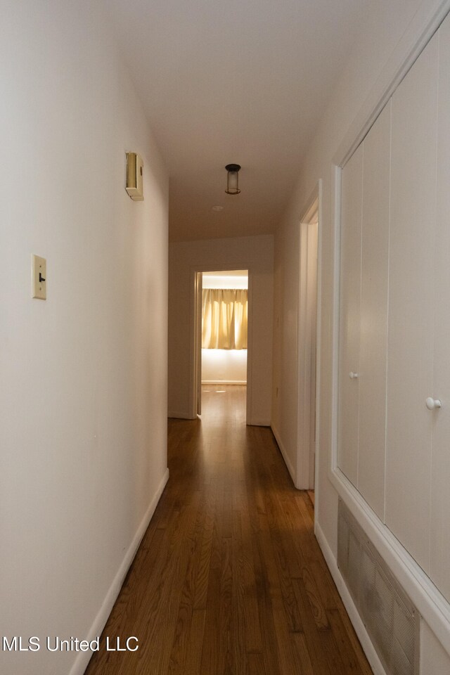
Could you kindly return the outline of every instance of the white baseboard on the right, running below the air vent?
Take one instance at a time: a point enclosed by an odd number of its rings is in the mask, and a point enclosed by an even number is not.
[[[375,647],[373,646],[371,638],[368,636],[364,623],[359,616],[359,612],[354,606],[352,596],[345,585],[344,579],[342,579],[342,575],[339,571],[333,551],[331,551],[328,541],[326,540],[326,536],[323,534],[321,526],[318,522],[316,522],[314,532],[316,534],[317,541],[319,541],[319,546],[321,547],[321,551],[323,553],[323,557],[326,560],[326,564],[328,565],[328,569],[330,570],[331,576],[333,577],[338,588],[339,595],[345,605],[347,614],[349,615],[350,621],[352,622],[356,631],[356,635],[359,638],[361,647],[364,650],[368,662],[371,664],[371,669],[373,670],[374,675],[386,675],[386,671],[383,668],[380,659],[378,658],[378,654],[375,651]]]

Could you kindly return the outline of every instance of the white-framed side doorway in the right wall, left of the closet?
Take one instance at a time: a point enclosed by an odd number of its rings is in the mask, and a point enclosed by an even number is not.
[[[300,221],[300,288],[298,311],[297,488],[316,501],[316,428],[318,417],[318,266],[319,188]]]

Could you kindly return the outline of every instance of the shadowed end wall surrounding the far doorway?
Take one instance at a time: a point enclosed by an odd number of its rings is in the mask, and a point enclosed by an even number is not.
[[[169,416],[189,418],[193,383],[193,276],[195,271],[248,269],[248,423],[269,425],[273,255],[271,236],[209,239],[169,245]]]

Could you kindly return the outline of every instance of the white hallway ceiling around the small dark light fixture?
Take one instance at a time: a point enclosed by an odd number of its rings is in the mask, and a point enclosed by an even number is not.
[[[274,231],[371,3],[108,0],[169,168],[172,240]]]

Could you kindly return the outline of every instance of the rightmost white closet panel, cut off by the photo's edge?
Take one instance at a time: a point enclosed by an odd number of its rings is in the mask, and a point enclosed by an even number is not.
[[[450,18],[439,29],[439,128],[435,248],[430,576],[450,600]]]

